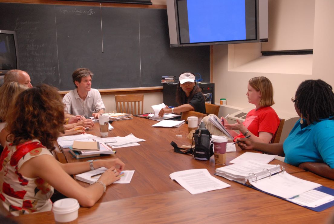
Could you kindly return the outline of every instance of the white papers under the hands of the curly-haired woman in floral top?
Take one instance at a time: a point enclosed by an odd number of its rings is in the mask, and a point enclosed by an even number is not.
[[[75,179],[86,182],[86,183],[95,183],[96,181],[98,181],[100,176],[94,176],[94,177],[92,176],[96,174],[100,174],[100,173],[102,174],[106,170],[107,170],[106,167],[100,167],[95,170],[77,174],[75,175]],[[121,179],[115,181],[114,183],[130,183],[134,172],[135,172],[134,170],[124,170],[124,176],[121,176]]]

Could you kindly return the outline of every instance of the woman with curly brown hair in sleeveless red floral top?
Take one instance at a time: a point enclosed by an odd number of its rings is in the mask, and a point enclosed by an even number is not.
[[[0,212],[28,214],[49,211],[53,188],[75,198],[81,206],[93,206],[106,186],[120,179],[124,163],[119,159],[62,164],[51,154],[59,132],[64,131],[64,104],[54,87],[41,85],[17,96],[6,117],[10,142],[1,154]],[[70,175],[106,167],[97,183],[87,188]]]

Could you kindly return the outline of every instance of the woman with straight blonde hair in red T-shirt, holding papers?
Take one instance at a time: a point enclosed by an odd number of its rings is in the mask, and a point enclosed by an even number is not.
[[[241,121],[237,120],[237,123],[230,125],[222,117],[220,119],[221,124],[228,129],[234,141],[237,138],[244,138],[250,135],[249,139],[255,142],[269,143],[280,124],[280,119],[271,107],[275,103],[273,85],[264,76],[254,77],[248,81],[246,95],[248,102],[255,105],[255,109],[248,112],[245,121],[241,123]],[[209,118],[209,116],[207,117]],[[207,117],[204,118],[204,121],[210,133],[213,135],[224,135],[208,121]],[[238,130],[240,134],[234,130]]]

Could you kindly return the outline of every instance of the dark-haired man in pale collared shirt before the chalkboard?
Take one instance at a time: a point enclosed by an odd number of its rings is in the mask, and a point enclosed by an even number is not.
[[[75,89],[63,98],[66,113],[95,118],[99,118],[104,113],[105,105],[100,92],[91,88],[93,75],[87,68],[78,68],[73,72],[72,80]]]

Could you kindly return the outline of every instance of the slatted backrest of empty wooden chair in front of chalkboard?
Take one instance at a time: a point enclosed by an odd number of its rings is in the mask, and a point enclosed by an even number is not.
[[[118,113],[126,113],[132,115],[144,113],[143,94],[115,95],[115,101],[116,101],[116,110]]]

